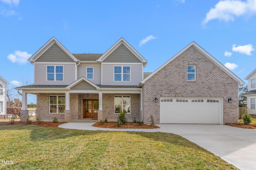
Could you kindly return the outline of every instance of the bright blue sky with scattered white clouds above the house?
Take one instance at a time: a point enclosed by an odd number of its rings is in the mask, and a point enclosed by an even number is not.
[[[195,41],[244,80],[256,68],[255,30],[256,0],[0,0],[0,76],[33,84],[27,59],[52,37],[95,54],[123,37],[148,61],[144,72]]]

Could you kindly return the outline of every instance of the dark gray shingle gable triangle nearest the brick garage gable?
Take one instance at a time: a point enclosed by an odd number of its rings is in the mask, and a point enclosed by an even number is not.
[[[123,44],[117,47],[104,61],[105,63],[141,63]]]

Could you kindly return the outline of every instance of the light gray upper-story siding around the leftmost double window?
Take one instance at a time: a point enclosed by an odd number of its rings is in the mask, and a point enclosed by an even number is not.
[[[46,66],[63,66],[63,81],[46,81]],[[69,85],[76,80],[76,63],[34,63],[35,85]]]

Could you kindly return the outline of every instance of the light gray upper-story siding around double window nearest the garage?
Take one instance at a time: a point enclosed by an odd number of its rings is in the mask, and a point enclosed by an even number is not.
[[[114,66],[130,66],[130,82],[114,82]],[[115,63],[115,64],[104,64],[102,63],[102,85],[122,85],[122,86],[138,86],[139,82],[142,80],[142,63],[138,64],[125,64],[125,63]]]

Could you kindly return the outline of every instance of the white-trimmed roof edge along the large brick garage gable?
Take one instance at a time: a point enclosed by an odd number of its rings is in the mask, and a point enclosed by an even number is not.
[[[236,76],[236,74],[234,74],[232,71],[230,71],[228,68],[226,68],[223,64],[221,64],[218,60],[216,60],[214,57],[212,57],[212,55],[210,55],[207,51],[205,51],[202,47],[200,47],[197,43],[195,43],[194,41],[192,41],[189,45],[187,45],[184,49],[182,49],[180,52],[178,52],[176,55],[174,55],[172,58],[170,58],[168,61],[166,61],[164,64],[162,64],[162,66],[160,66],[159,68],[157,68],[154,72],[152,72],[149,76],[147,76],[146,78],[144,78],[140,83],[139,86],[143,86],[143,84],[145,83],[146,80],[148,80],[150,77],[152,77],[154,74],[156,74],[159,70],[161,70],[162,68],[164,68],[164,66],[166,66],[167,64],[169,64],[170,62],[172,62],[174,59],[176,59],[176,57],[178,57],[180,54],[182,54],[184,51],[186,51],[186,49],[188,49],[189,47],[195,47],[198,51],[200,51],[204,56],[206,56],[208,59],[210,59],[210,61],[212,61],[213,63],[215,63],[217,66],[220,67],[220,69],[222,69],[224,72],[226,72],[230,77],[232,77],[237,83],[238,85],[243,85],[244,81],[241,80],[238,76]]]

